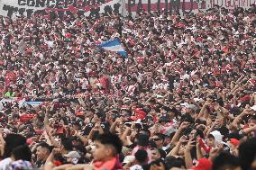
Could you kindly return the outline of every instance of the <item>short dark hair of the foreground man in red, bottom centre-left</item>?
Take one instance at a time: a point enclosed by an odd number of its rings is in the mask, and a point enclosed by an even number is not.
[[[112,133],[100,134],[96,137],[96,141],[99,141],[103,145],[112,145],[115,148],[115,154],[122,152],[123,142],[119,137]]]

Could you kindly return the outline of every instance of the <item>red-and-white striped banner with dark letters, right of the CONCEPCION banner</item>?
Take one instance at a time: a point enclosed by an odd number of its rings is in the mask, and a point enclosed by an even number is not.
[[[192,11],[206,9],[206,2],[196,0],[126,0],[127,13]]]

